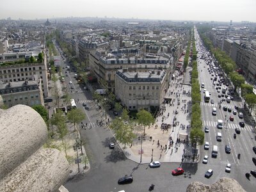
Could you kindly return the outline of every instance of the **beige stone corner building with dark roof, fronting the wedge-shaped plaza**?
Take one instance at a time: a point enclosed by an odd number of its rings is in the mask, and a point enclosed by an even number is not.
[[[168,89],[166,70],[129,72],[119,69],[115,74],[115,95],[129,110],[158,108]]]

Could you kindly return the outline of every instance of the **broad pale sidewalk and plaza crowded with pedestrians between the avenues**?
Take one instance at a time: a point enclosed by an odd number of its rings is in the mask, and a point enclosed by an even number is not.
[[[179,72],[175,71],[175,80],[166,92],[166,97],[170,102],[161,105],[156,124],[145,129],[145,138],[143,140],[140,138],[143,134],[143,127],[134,126],[134,132],[138,137],[132,146],[126,146],[124,149],[124,145],[119,144],[128,159],[137,163],[150,163],[152,160],[161,163],[198,163],[200,161],[199,155],[193,156],[191,143],[188,143],[189,113],[191,112],[189,72],[191,70],[192,68],[188,67],[184,77],[179,76]],[[140,154],[141,151],[142,154]]]

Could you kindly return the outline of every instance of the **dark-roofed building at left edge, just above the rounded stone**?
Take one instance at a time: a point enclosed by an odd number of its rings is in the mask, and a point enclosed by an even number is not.
[[[0,84],[3,104],[8,108],[17,104],[44,106],[44,97],[40,81],[19,81]]]

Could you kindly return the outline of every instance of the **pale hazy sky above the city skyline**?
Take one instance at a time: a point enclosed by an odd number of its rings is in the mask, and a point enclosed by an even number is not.
[[[118,17],[256,22],[256,0],[0,0],[0,19]]]

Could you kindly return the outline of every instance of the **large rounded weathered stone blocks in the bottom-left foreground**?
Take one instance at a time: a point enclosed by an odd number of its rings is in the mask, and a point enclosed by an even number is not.
[[[60,151],[42,148],[47,127],[23,105],[0,109],[0,191],[56,191],[68,177]]]

